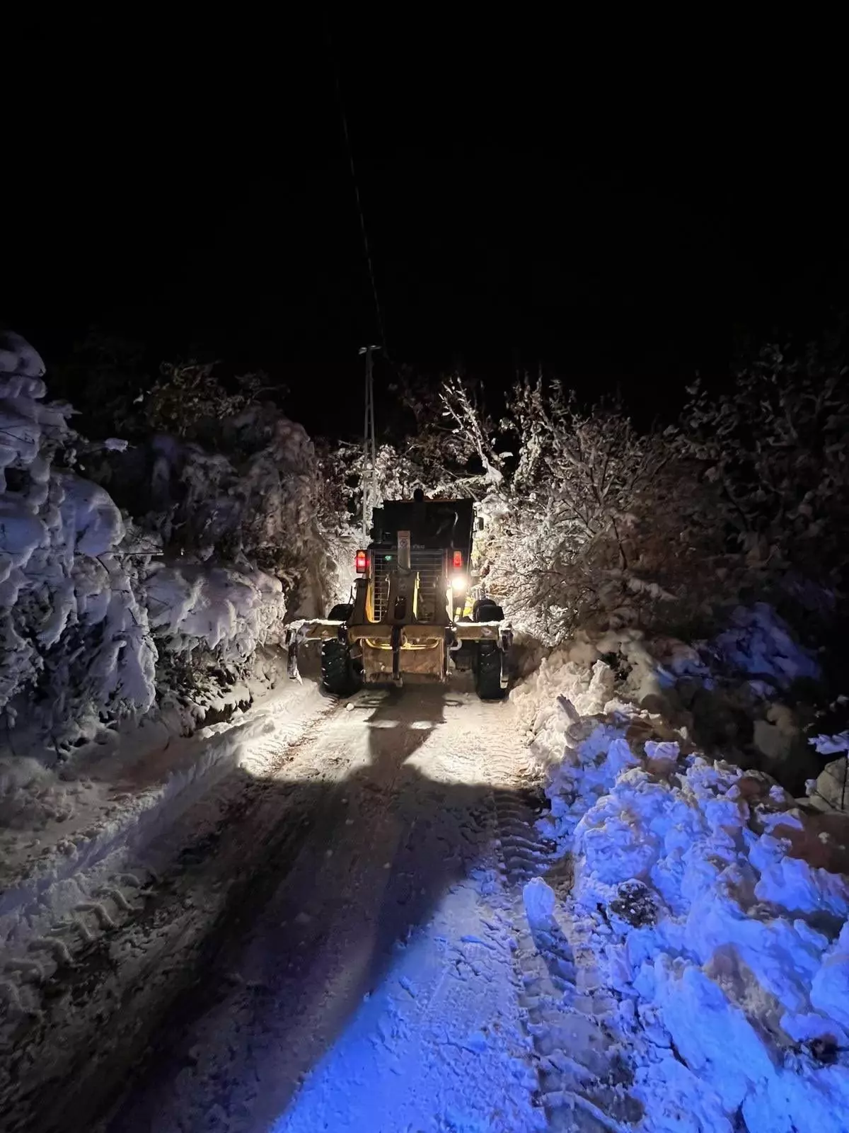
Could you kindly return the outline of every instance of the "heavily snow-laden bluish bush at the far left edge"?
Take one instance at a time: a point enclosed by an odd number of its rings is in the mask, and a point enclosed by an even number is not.
[[[44,365],[19,337],[0,351],[0,707],[35,692],[54,741],[97,715],[144,712],[153,646],[138,562],[110,496],[71,470],[70,408],[45,403]]]

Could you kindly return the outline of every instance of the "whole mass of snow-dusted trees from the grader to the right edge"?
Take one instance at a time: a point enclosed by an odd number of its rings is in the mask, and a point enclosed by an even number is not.
[[[443,399],[489,480],[484,585],[543,641],[589,617],[701,630],[741,599],[809,604],[841,583],[849,409],[833,358],[766,350],[735,391],[694,386],[662,432],[525,378],[501,423],[515,455],[458,392]]]

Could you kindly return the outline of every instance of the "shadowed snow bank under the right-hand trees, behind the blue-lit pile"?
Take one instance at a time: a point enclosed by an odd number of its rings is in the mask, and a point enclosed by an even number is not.
[[[588,674],[594,662],[592,689]],[[626,705],[653,713],[679,734],[715,756],[732,757],[779,780],[792,794],[805,791],[822,764],[805,735],[808,723],[806,690],[797,681],[821,676],[816,657],[799,646],[787,624],[763,604],[737,610],[731,625],[712,641],[686,645],[674,638],[648,638],[641,630],[580,631],[560,647],[514,692],[522,726],[546,746],[544,721],[566,695],[578,715],[604,709],[616,695]],[[601,682],[601,683],[599,683]],[[589,698],[585,700],[585,698]],[[559,759],[538,752],[543,763]],[[831,780],[822,792],[831,800]]]

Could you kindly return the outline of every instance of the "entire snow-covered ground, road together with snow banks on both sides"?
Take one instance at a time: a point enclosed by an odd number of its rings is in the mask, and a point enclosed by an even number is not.
[[[603,661],[265,688],[12,793],[3,1133],[844,1133],[842,816]]]

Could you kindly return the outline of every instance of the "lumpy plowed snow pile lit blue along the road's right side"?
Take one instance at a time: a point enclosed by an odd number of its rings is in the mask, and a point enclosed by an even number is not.
[[[560,912],[592,926],[641,1128],[846,1131],[844,816],[704,758],[614,687],[603,662],[554,655],[514,698],[549,767],[540,825],[573,855]]]

